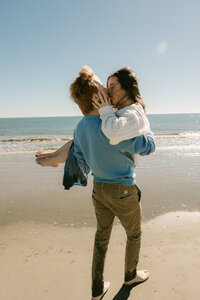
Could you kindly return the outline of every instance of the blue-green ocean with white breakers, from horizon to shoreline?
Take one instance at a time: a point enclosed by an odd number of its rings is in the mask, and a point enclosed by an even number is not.
[[[200,156],[199,113],[147,116],[157,151]],[[81,118],[0,118],[0,154],[56,150],[72,138]]]

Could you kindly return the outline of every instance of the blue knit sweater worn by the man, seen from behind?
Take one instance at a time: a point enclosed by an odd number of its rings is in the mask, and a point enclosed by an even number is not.
[[[101,131],[99,116],[85,116],[74,131],[74,155],[79,166],[92,170],[94,182],[124,185],[135,183],[130,153],[148,155],[155,151],[152,133],[111,145]]]

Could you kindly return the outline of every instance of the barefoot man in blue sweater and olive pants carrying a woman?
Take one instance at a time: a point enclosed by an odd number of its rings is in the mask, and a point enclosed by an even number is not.
[[[94,176],[92,199],[97,231],[92,264],[92,300],[99,300],[109,287],[109,283],[104,284],[103,269],[115,216],[127,234],[124,283],[131,285],[149,277],[148,271],[137,271],[141,237],[140,190],[135,184],[131,154],[148,155],[155,151],[155,143],[152,134],[148,133],[116,146],[110,145],[101,131],[98,110],[92,105],[98,92],[106,97],[106,91],[89,67],[81,69],[70,92],[84,114],[74,131],[74,155],[80,168],[89,166]]]

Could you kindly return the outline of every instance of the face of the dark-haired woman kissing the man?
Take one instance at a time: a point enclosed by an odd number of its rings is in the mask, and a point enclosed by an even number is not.
[[[122,89],[116,76],[111,76],[108,79],[108,94],[113,107],[117,107],[118,102],[125,95],[125,91]]]

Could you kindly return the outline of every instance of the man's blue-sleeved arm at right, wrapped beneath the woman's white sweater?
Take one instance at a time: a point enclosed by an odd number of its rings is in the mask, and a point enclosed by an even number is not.
[[[149,155],[156,149],[155,140],[151,132],[136,138],[123,141],[119,145],[119,150],[133,154]]]

